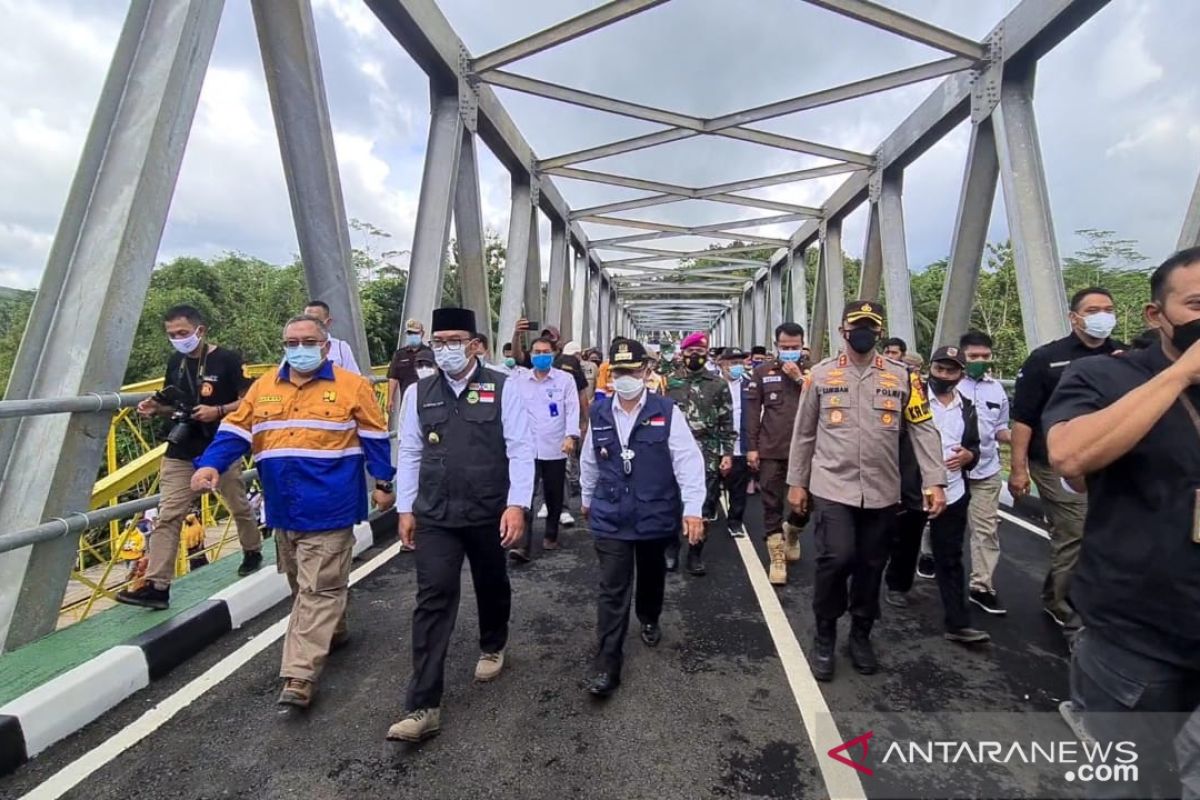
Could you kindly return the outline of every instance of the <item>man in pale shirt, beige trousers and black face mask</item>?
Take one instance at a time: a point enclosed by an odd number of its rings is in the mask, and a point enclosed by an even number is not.
[[[989,614],[1004,614],[996,597],[992,576],[1000,561],[1000,443],[1008,443],[1008,393],[992,378],[991,337],[983,331],[967,331],[959,339],[967,374],[959,393],[971,401],[979,420],[979,461],[967,474],[971,504],[967,519],[971,530],[971,602]]]

